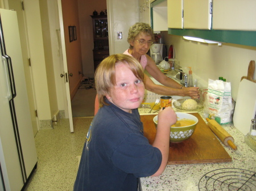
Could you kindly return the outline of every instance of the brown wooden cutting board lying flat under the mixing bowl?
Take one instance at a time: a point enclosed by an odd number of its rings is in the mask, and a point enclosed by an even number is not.
[[[187,140],[179,143],[170,142],[170,152],[167,164],[197,164],[225,163],[232,158],[221,145],[218,138],[205,124],[199,113],[189,113],[196,116],[199,122],[195,132]],[[156,128],[153,118],[156,114],[141,115],[144,126],[144,136],[152,145],[155,140]]]

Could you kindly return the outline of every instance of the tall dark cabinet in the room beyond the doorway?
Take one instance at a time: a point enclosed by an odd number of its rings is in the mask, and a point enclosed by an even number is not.
[[[94,70],[104,58],[109,56],[109,34],[107,15],[91,15],[93,19],[93,61]]]

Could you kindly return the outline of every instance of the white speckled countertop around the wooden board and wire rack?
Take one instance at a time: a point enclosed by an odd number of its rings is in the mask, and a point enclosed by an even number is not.
[[[149,105],[142,105],[139,108],[139,113],[148,114],[150,111]],[[181,112],[179,109],[174,108],[176,112]],[[154,113],[155,112],[155,113]],[[152,110],[153,114],[158,113],[158,111]],[[203,110],[198,112],[202,118]],[[206,122],[206,121],[205,121]],[[194,191],[194,190],[213,190],[212,187],[204,188],[201,186],[203,184],[199,181],[201,177],[204,177],[210,171],[221,169],[220,171],[226,172],[230,171],[230,169],[222,169],[222,168],[239,168],[245,169],[247,171],[256,172],[256,152],[254,152],[249,146],[245,143],[245,136],[238,131],[233,124],[222,125],[222,127],[234,138],[234,143],[237,146],[237,150],[234,151],[231,147],[227,147],[224,144],[221,145],[225,148],[228,154],[232,158],[232,162],[229,163],[205,163],[205,164],[177,164],[177,165],[167,165],[163,174],[158,177],[144,177],[141,178],[142,190],[179,190],[179,191]],[[210,148],[209,148],[210,149]],[[238,170],[240,171],[240,170]],[[204,177],[204,179],[206,179]],[[254,187],[255,188],[255,175],[254,175]],[[203,180],[203,179],[202,179]],[[224,185],[225,187],[225,185]],[[216,190],[228,190],[227,188],[218,188],[215,187]],[[237,190],[237,189],[236,189]]]

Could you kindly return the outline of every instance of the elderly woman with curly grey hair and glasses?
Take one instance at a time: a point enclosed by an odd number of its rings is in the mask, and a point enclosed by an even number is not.
[[[192,99],[199,98],[198,87],[183,87],[175,82],[175,80],[168,78],[159,70],[154,60],[147,55],[153,39],[154,33],[148,24],[135,23],[130,27],[128,33],[127,41],[130,44],[130,48],[124,52],[124,54],[129,54],[136,58],[141,63],[143,69],[146,69],[153,78],[164,85],[155,84],[144,74],[144,86],[146,90],[160,95],[190,96]]]

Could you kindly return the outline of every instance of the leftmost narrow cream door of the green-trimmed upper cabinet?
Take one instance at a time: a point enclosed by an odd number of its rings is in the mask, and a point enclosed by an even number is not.
[[[183,28],[183,0],[168,0],[168,28]]]

